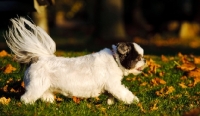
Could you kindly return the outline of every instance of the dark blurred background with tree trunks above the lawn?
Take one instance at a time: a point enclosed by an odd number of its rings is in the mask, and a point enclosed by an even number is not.
[[[1,0],[0,50],[9,19],[25,16],[58,50],[98,51],[136,42],[145,54],[200,54],[199,0]]]

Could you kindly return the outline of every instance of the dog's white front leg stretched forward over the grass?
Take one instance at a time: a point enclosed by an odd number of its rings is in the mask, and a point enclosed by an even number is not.
[[[108,84],[106,86],[106,90],[112,94],[115,98],[123,101],[126,104],[135,103],[137,104],[139,102],[139,99],[133,95],[131,91],[129,91],[124,85],[121,85],[121,82],[116,84]]]

